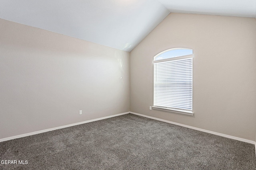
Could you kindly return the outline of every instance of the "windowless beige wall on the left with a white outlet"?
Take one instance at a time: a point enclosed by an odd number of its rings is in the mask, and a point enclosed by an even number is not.
[[[0,139],[127,112],[129,81],[128,52],[0,19]]]

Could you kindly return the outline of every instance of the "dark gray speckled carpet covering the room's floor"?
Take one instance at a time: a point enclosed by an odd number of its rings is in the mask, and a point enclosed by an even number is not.
[[[254,145],[126,114],[0,143],[0,169],[256,170]]]

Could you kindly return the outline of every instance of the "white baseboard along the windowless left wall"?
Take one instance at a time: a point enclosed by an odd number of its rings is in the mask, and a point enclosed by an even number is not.
[[[64,125],[64,126],[60,126],[60,127],[54,127],[54,128],[50,128],[50,129],[45,129],[45,130],[42,130],[42,131],[36,131],[36,132],[26,133],[26,134],[23,134],[23,135],[17,135],[17,136],[13,136],[13,137],[7,137],[7,138],[0,139],[0,142],[9,141],[9,140],[12,140],[12,139],[17,139],[17,138],[26,137],[26,136],[31,136],[31,135],[36,135],[36,134],[44,133],[44,132],[48,132],[48,131],[54,131],[54,130],[62,129],[62,128],[65,128],[65,127],[71,127],[71,126],[81,125],[81,124],[89,123],[89,122],[92,122],[92,121],[98,121],[98,120],[102,120],[102,119],[108,119],[108,118],[110,118],[110,117],[116,117],[116,116],[125,115],[125,114],[128,114],[128,113],[130,113],[130,112],[120,113],[120,114],[116,114],[116,115],[110,115],[110,116],[106,116],[106,117],[100,117],[100,118],[97,118],[97,119],[82,121],[82,122],[73,123],[73,124],[70,124],[70,125]]]

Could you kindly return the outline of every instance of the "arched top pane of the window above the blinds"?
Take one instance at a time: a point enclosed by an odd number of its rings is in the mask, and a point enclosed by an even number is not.
[[[188,56],[188,55],[193,55],[192,49],[186,49],[186,48],[168,49],[156,55],[154,57],[154,61],[171,59],[175,57],[182,57],[182,56]]]

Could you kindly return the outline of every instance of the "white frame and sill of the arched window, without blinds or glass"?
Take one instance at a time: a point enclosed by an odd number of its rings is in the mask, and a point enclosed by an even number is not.
[[[182,55],[182,56],[177,56],[177,57],[171,57],[168,59],[162,59],[162,60],[156,60],[156,58],[160,55],[162,55],[163,53],[166,53],[168,51],[173,51],[173,50],[177,50],[177,49],[188,49],[188,48],[172,48],[172,49],[168,49],[165,51],[162,51],[161,53],[158,53],[157,55],[154,56],[154,60],[153,60],[153,64],[154,64],[154,70],[153,70],[153,101],[155,102],[154,96],[155,96],[155,63],[161,63],[161,62],[166,62],[166,61],[172,61],[172,60],[179,60],[179,59],[186,59],[186,58],[192,58],[192,107],[191,110],[187,110],[187,109],[180,109],[180,108],[174,108],[174,107],[162,107],[162,106],[152,106],[153,109],[158,109],[158,110],[163,110],[163,111],[170,111],[170,112],[175,112],[175,113],[182,113],[182,114],[186,114],[186,115],[194,115],[193,112],[193,59],[194,59],[194,53],[193,53],[193,49],[189,49],[192,50],[192,55]]]

